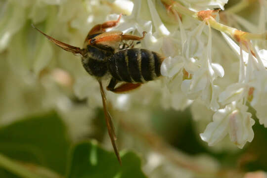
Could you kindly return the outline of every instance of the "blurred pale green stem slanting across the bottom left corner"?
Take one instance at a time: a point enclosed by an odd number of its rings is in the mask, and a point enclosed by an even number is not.
[[[40,177],[37,174],[32,173],[25,167],[21,166],[20,164],[16,163],[15,161],[5,157],[4,155],[0,154],[0,167],[6,169],[7,171],[21,177],[21,178],[44,178]]]

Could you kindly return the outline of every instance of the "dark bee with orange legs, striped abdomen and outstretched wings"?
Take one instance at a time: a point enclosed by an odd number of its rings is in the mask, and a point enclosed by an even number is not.
[[[110,78],[107,90],[122,93],[128,92],[161,76],[160,67],[164,59],[157,52],[143,48],[134,48],[127,45],[126,41],[140,41],[145,37],[126,35],[121,31],[106,32],[107,28],[115,27],[122,14],[117,20],[107,21],[95,25],[88,33],[83,48],[65,44],[46,35],[44,32],[32,26],[42,33],[48,40],[62,49],[81,56],[85,70],[99,83],[102,97],[103,110],[114,152],[121,164],[121,158],[116,145],[116,135],[111,115],[107,110],[107,99],[102,85],[104,78]],[[121,46],[121,47],[120,47]]]

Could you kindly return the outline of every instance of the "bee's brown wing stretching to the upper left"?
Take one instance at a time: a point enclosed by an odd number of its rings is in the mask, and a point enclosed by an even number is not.
[[[44,32],[42,32],[41,30],[39,30],[38,28],[36,28],[33,24],[32,24],[32,27],[35,28],[36,30],[38,30],[48,40],[50,40],[51,42],[53,42],[55,45],[58,45],[62,49],[66,50],[66,51],[69,51],[69,52],[72,52],[74,54],[80,54],[82,56],[85,56],[86,55],[86,51],[84,49],[81,49],[80,47],[75,47],[75,46],[68,45],[68,44],[65,44],[63,42],[60,42],[60,41],[58,41],[58,40],[56,40],[56,39],[54,39],[54,38],[46,35]]]

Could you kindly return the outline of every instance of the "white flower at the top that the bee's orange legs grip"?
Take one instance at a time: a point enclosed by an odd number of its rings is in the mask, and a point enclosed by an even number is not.
[[[121,21],[119,26],[111,30],[120,30],[123,33],[132,32],[135,35],[141,35],[145,31],[145,38],[141,41],[142,46],[152,51],[159,52],[163,39],[170,35],[151,0],[135,0],[132,14],[122,17]]]

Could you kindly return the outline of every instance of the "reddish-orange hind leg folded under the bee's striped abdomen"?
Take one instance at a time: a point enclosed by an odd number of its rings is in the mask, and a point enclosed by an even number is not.
[[[124,93],[128,92],[134,89],[137,89],[138,87],[141,86],[141,83],[133,84],[133,83],[124,83],[120,85],[119,87],[115,86],[118,84],[118,80],[112,78],[109,82],[109,85],[107,86],[107,90],[110,90],[115,93]]]

